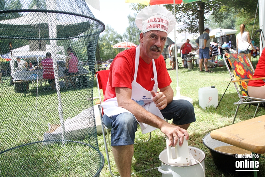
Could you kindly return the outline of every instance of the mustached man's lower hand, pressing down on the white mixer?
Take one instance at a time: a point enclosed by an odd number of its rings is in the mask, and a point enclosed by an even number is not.
[[[184,135],[187,140],[189,137],[187,130],[180,128],[178,126],[169,124],[167,122],[164,123],[164,125],[160,128],[160,130],[162,131],[162,133],[167,135],[170,141],[169,146],[172,146],[172,147],[175,147],[177,145],[178,139],[179,139],[179,145],[182,146]]]

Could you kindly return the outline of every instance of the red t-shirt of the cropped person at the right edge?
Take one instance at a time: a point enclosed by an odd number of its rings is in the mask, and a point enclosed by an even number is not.
[[[258,60],[253,78],[264,78],[265,77],[264,68],[265,68],[265,50],[262,50],[262,53]],[[265,83],[263,80],[253,80],[253,81],[249,81],[247,85],[253,86],[253,87],[261,87],[265,85]]]

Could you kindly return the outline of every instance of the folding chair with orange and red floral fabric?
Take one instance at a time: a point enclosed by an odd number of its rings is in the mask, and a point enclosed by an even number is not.
[[[233,73],[234,73],[236,80],[234,79],[234,77],[230,71],[230,68],[225,61],[225,56],[231,65],[231,68],[233,70]],[[248,95],[248,92],[247,92],[247,84],[248,84],[248,81],[250,81],[250,80],[258,80],[258,79],[265,79],[265,78],[252,78],[254,75],[254,68],[252,67],[249,58],[245,54],[226,53],[223,55],[223,60],[224,60],[225,66],[226,66],[226,68],[227,68],[227,70],[231,76],[231,82],[234,83],[238,97],[239,97],[239,101],[234,103],[234,105],[237,105],[237,108],[236,108],[236,113],[235,113],[234,120],[233,120],[232,124],[234,124],[239,106],[242,104],[258,103],[257,109],[256,109],[255,114],[253,116],[253,118],[254,118],[257,114],[257,110],[258,110],[260,104],[265,103],[265,99],[250,97]],[[238,83],[238,85],[240,87],[241,94],[240,94],[239,89],[236,85],[236,82]]]

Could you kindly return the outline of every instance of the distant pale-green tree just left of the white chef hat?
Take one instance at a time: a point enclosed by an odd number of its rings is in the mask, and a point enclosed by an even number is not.
[[[138,45],[141,30],[138,29],[138,27],[135,24],[136,15],[137,15],[136,13],[134,14],[134,16],[128,15],[129,27],[126,28],[126,32],[124,33],[124,38],[128,42],[132,42]]]

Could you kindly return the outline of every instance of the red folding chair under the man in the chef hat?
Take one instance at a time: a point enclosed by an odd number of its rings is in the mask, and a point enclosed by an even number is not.
[[[108,161],[108,166],[109,166],[109,173],[111,174],[111,176],[114,177],[115,175],[111,171],[111,166],[110,166],[110,161],[109,161],[108,145],[107,145],[106,136],[105,136],[105,129],[106,129],[108,142],[109,142],[109,145],[110,145],[109,129],[103,124],[103,121],[102,121],[103,109],[101,107],[101,104],[102,104],[103,96],[102,96],[102,94],[100,92],[100,90],[102,90],[103,91],[103,95],[105,94],[105,90],[107,88],[108,79],[109,79],[109,69],[96,72],[96,80],[97,80],[98,95],[99,95],[99,101],[96,102],[96,105],[98,105],[98,109],[99,109],[99,115],[100,115],[100,121],[101,121],[101,127],[102,127],[102,134],[103,134],[104,145],[105,145],[105,150],[106,150],[106,156],[107,156],[107,161]],[[148,140],[146,142],[148,142],[150,139],[151,139],[151,132],[149,133],[149,138],[148,138]]]

